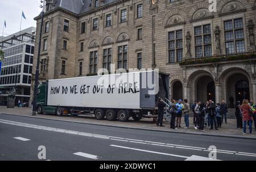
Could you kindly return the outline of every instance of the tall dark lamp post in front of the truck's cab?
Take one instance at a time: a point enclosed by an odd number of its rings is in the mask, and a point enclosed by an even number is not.
[[[35,86],[34,86],[34,99],[33,99],[33,111],[32,115],[36,115],[36,96],[38,94],[38,80],[39,80],[39,65],[40,65],[40,53],[41,53],[41,44],[42,44],[42,33],[43,33],[43,23],[44,23],[44,11],[46,10],[46,1],[41,0],[43,5],[40,5],[40,8],[43,8],[41,12],[41,26],[40,26],[40,35],[39,35],[39,43],[38,43],[38,61],[36,63],[36,74],[35,74]]]

